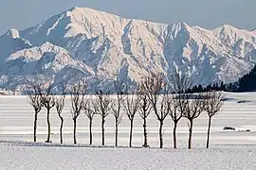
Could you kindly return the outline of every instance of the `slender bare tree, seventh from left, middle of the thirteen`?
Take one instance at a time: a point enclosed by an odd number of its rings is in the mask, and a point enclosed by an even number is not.
[[[119,124],[123,118],[123,112],[122,110],[122,105],[123,105],[123,99],[124,99],[124,95],[123,95],[123,84],[122,82],[115,80],[114,81],[114,87],[116,90],[116,99],[113,103],[113,107],[112,107],[112,112],[113,115],[115,117],[115,127],[116,127],[116,146],[118,146],[119,144]]]

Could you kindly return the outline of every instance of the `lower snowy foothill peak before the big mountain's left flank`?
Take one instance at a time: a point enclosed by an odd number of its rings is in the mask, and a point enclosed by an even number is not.
[[[39,47],[35,46],[17,51],[6,60],[8,75],[52,75],[60,72],[66,66],[73,66],[83,72],[93,74],[93,71],[81,61],[72,59],[64,48],[50,42],[46,42]]]

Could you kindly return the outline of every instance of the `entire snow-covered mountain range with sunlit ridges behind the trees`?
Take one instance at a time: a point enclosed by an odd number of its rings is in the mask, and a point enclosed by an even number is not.
[[[0,88],[19,91],[24,78],[52,78],[56,84],[86,78],[94,92],[115,78],[135,85],[149,71],[170,76],[176,69],[206,85],[235,81],[255,61],[255,31],[156,24],[71,8],[0,37]]]

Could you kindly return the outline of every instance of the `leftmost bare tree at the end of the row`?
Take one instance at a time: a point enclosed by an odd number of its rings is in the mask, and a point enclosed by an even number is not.
[[[38,113],[42,110],[42,89],[40,84],[29,83],[27,86],[27,102],[34,109],[34,142],[36,142],[36,129]]]

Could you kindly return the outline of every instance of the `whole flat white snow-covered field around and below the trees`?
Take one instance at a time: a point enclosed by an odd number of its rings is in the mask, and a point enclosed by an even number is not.
[[[194,123],[193,149],[187,149],[188,124],[178,125],[178,147],[172,149],[173,123],[164,124],[164,149],[158,149],[158,122],[148,119],[149,144],[142,145],[142,121],[135,120],[133,145],[129,148],[129,121],[119,127],[119,148],[114,147],[114,118],[106,120],[106,145],[101,145],[101,120],[93,124],[93,143],[88,146],[88,120],[78,120],[78,145],[72,144],[70,103],[64,109],[64,144],[59,143],[57,113],[52,110],[52,142],[46,141],[46,110],[39,115],[38,141],[32,142],[33,111],[24,96],[0,96],[0,169],[256,169],[256,93],[227,93],[229,100],[213,117],[210,149],[205,149],[208,117],[202,113]],[[236,127],[225,131],[223,127]],[[244,131],[250,129],[250,132]],[[255,144],[255,145],[254,145]]]

